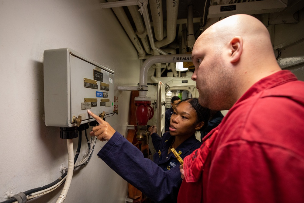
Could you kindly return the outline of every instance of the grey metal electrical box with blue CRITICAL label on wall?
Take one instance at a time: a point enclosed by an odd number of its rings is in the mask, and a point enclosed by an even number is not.
[[[113,114],[112,70],[70,48],[45,50],[43,58],[47,126],[74,127],[79,118],[80,124],[94,121],[88,109],[96,115]]]

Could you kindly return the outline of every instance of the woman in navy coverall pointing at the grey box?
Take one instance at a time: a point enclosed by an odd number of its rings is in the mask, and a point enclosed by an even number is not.
[[[185,99],[174,109],[170,131],[164,133],[162,138],[155,133],[155,127],[149,128],[152,131],[154,148],[157,150],[154,162],[144,158],[142,152],[115,131],[109,123],[90,110],[88,113],[99,123],[90,135],[97,136],[101,141],[108,141],[97,156],[152,200],[176,202],[182,179],[180,163],[171,152],[171,148],[175,148],[181,158],[199,148],[201,143],[195,138],[194,133],[206,127],[204,124],[208,123],[209,109],[200,106],[197,98]]]

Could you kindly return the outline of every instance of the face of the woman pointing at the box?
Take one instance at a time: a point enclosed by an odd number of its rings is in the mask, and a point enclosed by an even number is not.
[[[181,102],[174,108],[170,119],[170,135],[192,135],[195,132],[197,115],[188,102]]]

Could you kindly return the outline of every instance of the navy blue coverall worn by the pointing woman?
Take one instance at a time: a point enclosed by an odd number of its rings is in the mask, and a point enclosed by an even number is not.
[[[159,137],[151,135],[154,148],[154,162],[144,158],[143,153],[115,132],[111,139],[102,147],[97,156],[112,168],[128,183],[139,189],[157,202],[177,202],[181,186],[180,163],[168,149],[174,139],[169,132]],[[192,135],[176,148],[181,158],[199,148],[201,143]]]

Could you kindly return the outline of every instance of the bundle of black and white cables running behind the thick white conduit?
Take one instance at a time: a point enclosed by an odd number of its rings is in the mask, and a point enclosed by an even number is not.
[[[86,133],[86,129],[85,129],[85,135],[86,134],[87,133]],[[86,136],[86,138],[87,138],[87,136]],[[84,166],[85,164],[88,163],[88,161],[92,157],[92,154],[93,154],[92,152],[94,151],[96,140],[97,140],[96,137],[94,139],[91,137],[91,140],[88,143],[88,150],[87,150],[87,152],[83,156],[82,160],[80,162],[78,162],[78,163],[75,164],[74,169],[76,169],[78,166]],[[87,141],[88,141],[88,138],[87,138]],[[92,149],[91,149],[91,146],[92,146]],[[57,180],[55,180],[54,182],[52,182],[50,184],[47,184],[47,185],[44,185],[42,187],[37,187],[37,188],[30,189],[28,191],[25,191],[24,194],[26,194],[27,200],[39,197],[39,196],[41,196],[43,194],[47,194],[47,193],[55,190],[62,183],[64,183],[64,181],[66,180],[66,175],[67,175],[67,171],[64,174],[62,174]],[[16,198],[11,197],[10,199],[2,201],[0,203],[18,203],[18,201],[16,200]]]

